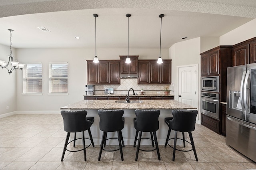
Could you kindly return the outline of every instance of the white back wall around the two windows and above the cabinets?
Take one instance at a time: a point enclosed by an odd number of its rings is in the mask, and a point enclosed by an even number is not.
[[[161,49],[168,59],[168,49]],[[95,49],[17,49],[20,62],[42,62],[43,95],[22,95],[22,73],[17,74],[17,111],[60,111],[60,107],[83,100],[87,84],[86,59],[93,59]],[[120,59],[127,49],[97,49],[98,59]],[[157,59],[159,49],[129,49],[139,59]],[[68,62],[68,95],[48,94],[48,62]]]

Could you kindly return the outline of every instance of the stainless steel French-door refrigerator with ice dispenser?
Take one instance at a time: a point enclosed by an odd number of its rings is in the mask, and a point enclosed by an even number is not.
[[[256,162],[256,63],[227,69],[226,144]]]

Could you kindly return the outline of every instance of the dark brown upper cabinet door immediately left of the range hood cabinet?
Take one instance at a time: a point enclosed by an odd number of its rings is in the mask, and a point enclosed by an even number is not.
[[[109,83],[120,84],[120,62],[110,61],[109,62]]]

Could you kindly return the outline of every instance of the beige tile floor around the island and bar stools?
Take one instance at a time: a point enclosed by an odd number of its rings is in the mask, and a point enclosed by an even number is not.
[[[167,128],[167,126],[166,126]],[[172,148],[160,146],[161,160],[156,151],[139,152],[136,148],[123,148],[124,161],[120,152],[102,152],[98,161],[99,146],[83,152],[66,152],[61,162],[66,132],[60,114],[22,114],[0,119],[0,170],[244,170],[256,169],[256,163],[226,146],[226,138],[202,125],[192,132],[198,154],[176,152],[172,161]],[[70,147],[72,149],[72,147]]]

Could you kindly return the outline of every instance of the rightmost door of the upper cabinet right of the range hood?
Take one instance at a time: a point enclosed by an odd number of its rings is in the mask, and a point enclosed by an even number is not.
[[[172,61],[164,61],[161,64],[161,75],[160,83],[161,84],[171,84],[172,83]]]

